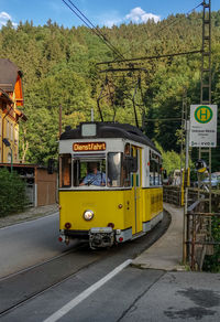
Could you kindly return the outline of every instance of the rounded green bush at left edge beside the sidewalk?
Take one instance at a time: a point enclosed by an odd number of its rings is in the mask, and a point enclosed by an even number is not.
[[[21,212],[25,204],[25,183],[15,171],[0,169],[0,217]]]

